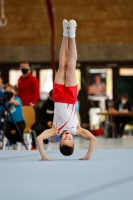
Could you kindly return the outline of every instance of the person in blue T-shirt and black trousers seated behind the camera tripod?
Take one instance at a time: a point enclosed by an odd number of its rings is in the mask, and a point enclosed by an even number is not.
[[[10,84],[5,85],[5,93],[6,92],[7,93],[12,92],[12,97],[10,98],[9,101],[7,101],[5,103],[4,106],[2,106],[2,105],[0,106],[0,112],[4,111],[4,107],[7,107],[8,109],[10,109],[12,117],[14,118],[14,121],[16,122],[16,124],[20,130],[20,133],[23,137],[25,121],[24,121],[24,117],[22,114],[22,102],[19,97],[15,96],[15,88],[12,85],[10,85]],[[12,130],[15,130],[15,134],[11,133]],[[21,149],[22,139],[21,139],[21,137],[16,129],[16,126],[9,114],[8,114],[8,118],[7,118],[7,126],[6,126],[5,136],[13,144],[13,149],[18,149],[18,150]]]

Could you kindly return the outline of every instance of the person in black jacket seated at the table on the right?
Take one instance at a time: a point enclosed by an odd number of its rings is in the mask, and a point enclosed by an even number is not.
[[[129,101],[129,95],[124,93],[121,96],[121,99],[118,100],[114,104],[114,109],[119,112],[132,111],[132,105]],[[116,133],[117,133],[116,136],[120,135],[120,137],[122,137],[122,133],[124,131],[125,125],[130,121],[131,121],[131,117],[128,117],[128,116],[115,117],[115,126],[116,126]]]

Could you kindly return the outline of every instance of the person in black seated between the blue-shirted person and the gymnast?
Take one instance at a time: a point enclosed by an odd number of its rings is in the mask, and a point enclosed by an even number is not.
[[[35,123],[32,129],[36,132],[36,136],[40,135],[44,130],[52,127],[54,117],[54,101],[52,98],[52,90],[49,92],[48,99],[44,102],[39,117],[39,124]],[[45,144],[48,144],[49,140],[44,140]],[[32,138],[32,149],[35,148],[35,141]]]

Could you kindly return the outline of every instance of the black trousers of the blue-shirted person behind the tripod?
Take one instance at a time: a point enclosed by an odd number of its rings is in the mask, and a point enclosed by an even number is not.
[[[23,131],[25,129],[25,122],[24,121],[21,121],[21,122],[17,122],[16,123],[19,130],[20,130],[20,133],[23,137]],[[15,134],[12,134],[11,131],[12,130],[15,130],[16,133]],[[22,142],[22,139],[16,129],[16,126],[13,122],[7,122],[7,126],[6,126],[6,132],[5,132],[5,136],[8,138],[8,140],[12,143],[12,144],[16,144],[16,142]]]

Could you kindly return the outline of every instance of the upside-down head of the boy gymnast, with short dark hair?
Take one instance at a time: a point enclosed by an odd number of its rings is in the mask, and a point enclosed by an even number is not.
[[[64,156],[70,156],[74,151],[74,140],[70,131],[65,130],[61,134],[60,152]]]

